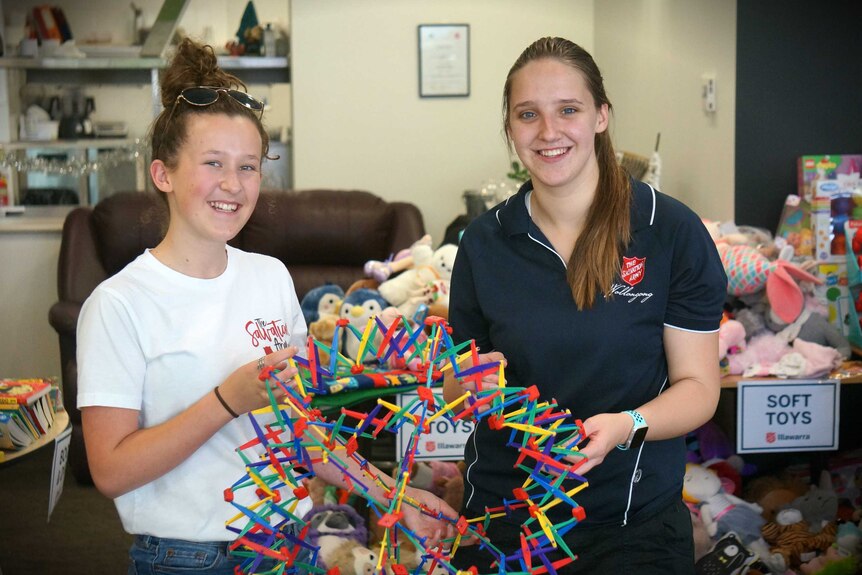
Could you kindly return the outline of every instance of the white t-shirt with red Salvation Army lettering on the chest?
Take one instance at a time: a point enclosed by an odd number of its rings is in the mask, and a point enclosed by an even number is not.
[[[304,348],[305,320],[284,264],[230,246],[227,255],[222,275],[199,279],[147,251],[93,291],[78,321],[79,408],[135,409],[141,427],[152,427],[241,365],[288,345]],[[236,448],[254,437],[242,415],[176,468],[116,498],[123,527],[188,541],[234,539],[225,521],[237,511],[224,490],[245,473]],[[254,500],[253,488],[236,492],[237,503]],[[294,514],[310,508],[306,498]]]

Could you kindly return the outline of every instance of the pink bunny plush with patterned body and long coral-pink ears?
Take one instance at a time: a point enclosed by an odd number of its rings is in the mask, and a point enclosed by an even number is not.
[[[787,323],[793,323],[805,305],[805,296],[794,278],[823,283],[788,261],[770,260],[756,248],[725,242],[718,242],[716,247],[727,273],[727,293],[746,295],[765,287],[772,310]]]

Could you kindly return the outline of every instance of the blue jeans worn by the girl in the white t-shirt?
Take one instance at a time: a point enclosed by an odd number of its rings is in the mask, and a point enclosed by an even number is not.
[[[160,575],[166,573],[200,573],[207,575],[234,575],[236,567],[246,561],[244,557],[230,555],[228,541],[184,541],[163,539],[151,535],[135,535],[129,549],[128,575]],[[301,550],[296,562],[309,563],[311,553]],[[263,561],[256,573],[267,573],[279,565],[273,560]],[[305,575],[307,570],[295,567],[285,573]]]

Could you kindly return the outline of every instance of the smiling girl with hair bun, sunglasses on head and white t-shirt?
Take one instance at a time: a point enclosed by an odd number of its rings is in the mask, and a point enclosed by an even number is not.
[[[292,377],[287,360],[304,347],[307,328],[284,264],[227,245],[260,193],[269,147],[263,104],[219,68],[211,47],[191,40],[178,46],[161,92],[150,177],[168,204],[168,229],[84,303],[78,406],[96,487],[135,535],[129,573],[232,575],[240,560],[228,553],[234,536],[225,521],[235,509],[223,494],[244,473],[235,449],[255,436],[239,416],[269,405],[261,369]],[[271,340],[253,337],[259,325],[272,328]],[[344,485],[334,465],[315,471]],[[368,485],[383,501],[381,488]],[[455,516],[430,493],[408,493]],[[310,507],[305,500],[294,514]],[[402,509],[407,525],[432,540],[454,534],[449,523]]]

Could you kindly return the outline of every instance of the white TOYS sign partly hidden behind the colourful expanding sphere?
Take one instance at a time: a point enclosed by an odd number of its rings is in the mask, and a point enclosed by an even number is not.
[[[436,395],[442,395],[442,389],[435,389]],[[404,407],[416,399],[418,395],[414,391],[398,394],[398,405]],[[450,421],[447,418],[439,418],[428,426],[428,433],[422,435],[421,443],[416,450],[416,460],[458,461],[464,459],[464,446],[467,438],[473,433],[476,425],[472,421],[459,419]],[[406,452],[407,442],[413,433],[413,426],[405,422],[398,430],[397,448],[395,453]],[[399,456],[400,457],[400,456]]]

